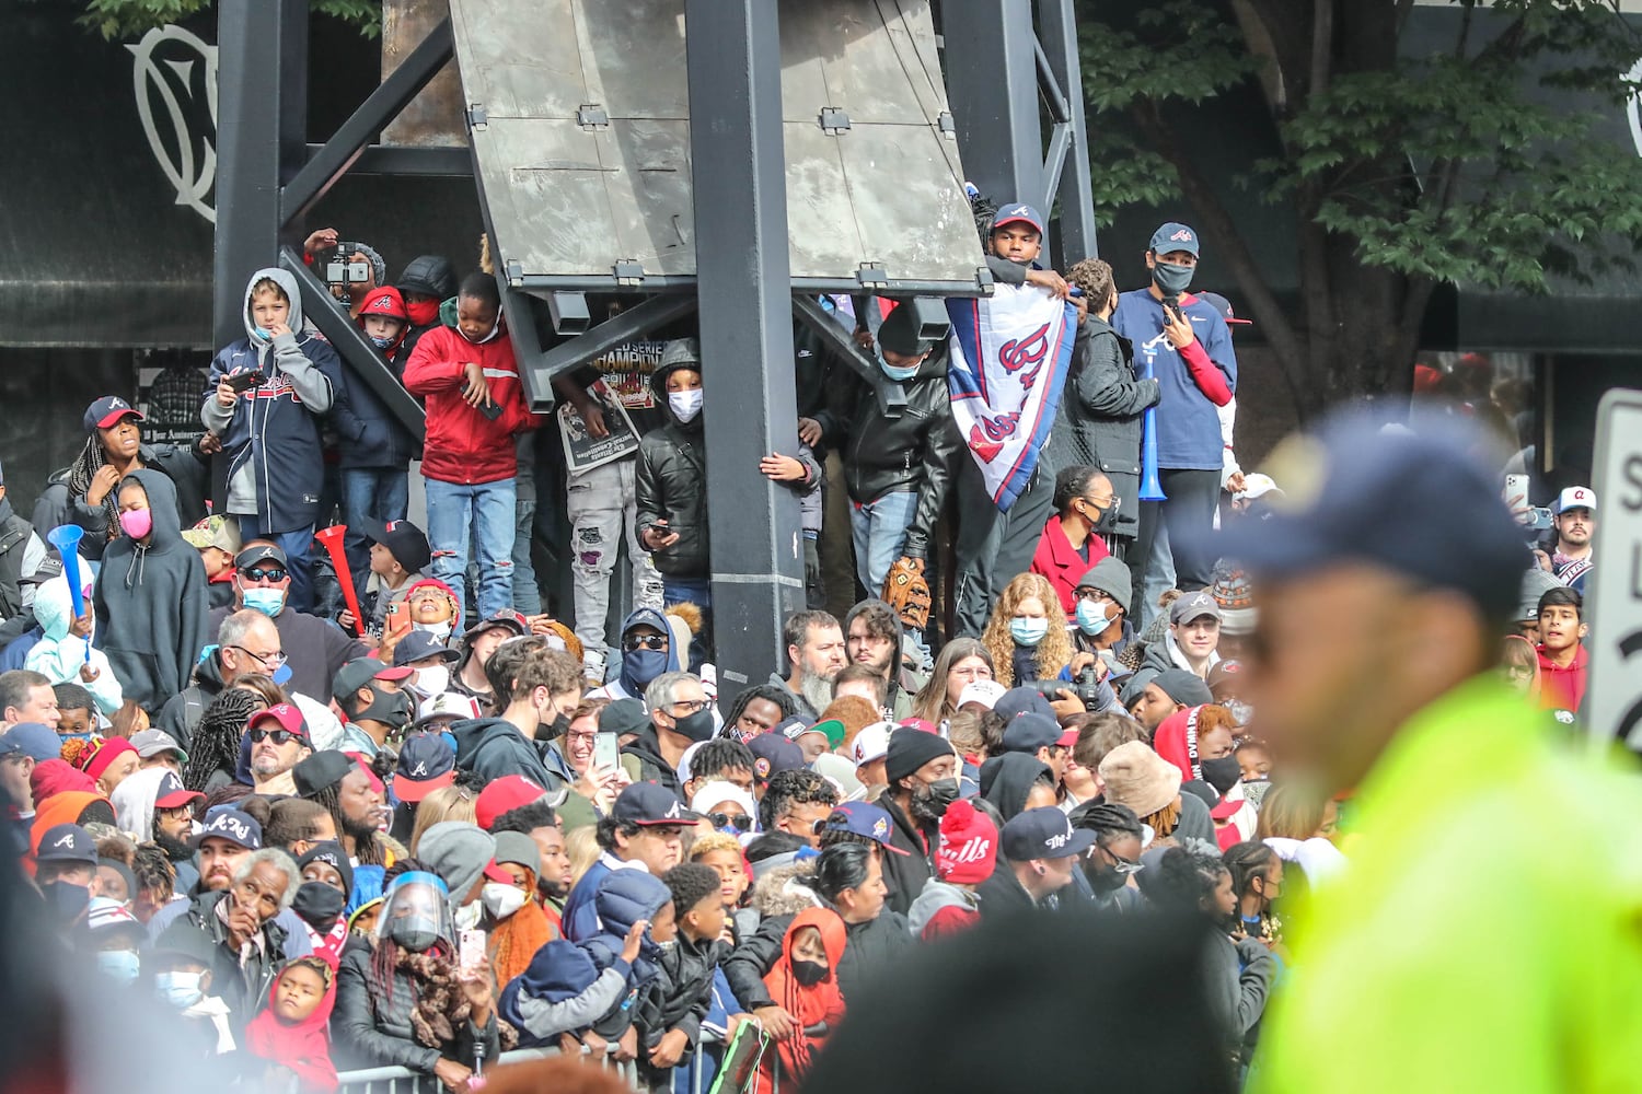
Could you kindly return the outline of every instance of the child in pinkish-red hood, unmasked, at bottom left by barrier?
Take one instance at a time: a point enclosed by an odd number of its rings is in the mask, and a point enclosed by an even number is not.
[[[297,958],[274,979],[268,1009],[245,1027],[245,1048],[269,1061],[264,1089],[332,1094],[337,1064],[330,1061],[332,1007],[337,974],[320,958]]]

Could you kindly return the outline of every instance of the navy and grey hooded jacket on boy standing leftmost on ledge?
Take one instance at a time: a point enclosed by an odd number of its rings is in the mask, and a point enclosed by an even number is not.
[[[291,302],[289,335],[258,336],[251,289],[273,280]],[[342,366],[319,331],[305,326],[297,279],[277,267],[259,269],[245,284],[245,340],[210,362],[200,422],[222,438],[228,459],[228,497],[218,510],[256,515],[264,531],[309,528],[319,517],[325,479],[320,422],[330,410]],[[217,402],[217,384],[233,372],[259,371],[261,387],[241,392],[233,407]]]

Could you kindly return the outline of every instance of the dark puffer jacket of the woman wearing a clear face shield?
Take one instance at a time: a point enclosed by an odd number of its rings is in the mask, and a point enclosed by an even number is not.
[[[337,1012],[330,1027],[337,1038],[338,1063],[351,1066],[399,1066],[432,1074],[440,1060],[475,1063],[475,1045],[483,1045],[484,1060],[501,1055],[501,1038],[496,1012],[483,1028],[463,1022],[456,1038],[438,1048],[429,1048],[415,1040],[410,1028],[410,1010],[415,1005],[415,986],[409,973],[394,971],[392,991],[376,982],[371,968],[374,953],[353,950],[343,955],[337,969]]]

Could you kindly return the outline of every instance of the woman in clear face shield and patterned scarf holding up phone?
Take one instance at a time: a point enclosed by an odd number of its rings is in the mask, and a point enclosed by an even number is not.
[[[399,874],[376,920],[374,953],[355,950],[337,969],[332,1028],[350,1063],[397,1064],[463,1091],[479,1060],[501,1055],[514,1030],[496,1020],[491,964],[460,969],[455,938],[445,882]]]

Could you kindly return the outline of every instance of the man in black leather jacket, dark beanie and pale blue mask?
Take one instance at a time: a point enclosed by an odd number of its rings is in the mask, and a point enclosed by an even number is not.
[[[865,317],[857,318],[855,341],[875,353],[883,379],[906,397],[905,413],[890,417],[878,405],[875,385],[846,371],[844,385],[816,412],[816,440],[844,458],[851,525],[855,538],[855,577],[867,595],[883,592],[890,566],[905,558],[918,569],[929,554],[929,533],[952,482],[954,459],[962,446],[951,428],[952,399],[946,389],[944,341],[918,338],[913,308],[898,307],[874,335]],[[839,413],[832,407],[849,407]],[[980,633],[985,612],[974,631]],[[849,628],[846,625],[846,635]]]

